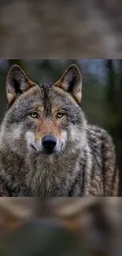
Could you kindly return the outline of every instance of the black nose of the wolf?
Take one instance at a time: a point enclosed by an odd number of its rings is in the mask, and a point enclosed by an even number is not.
[[[52,150],[57,145],[57,139],[52,135],[46,135],[42,139],[42,144],[46,150]]]

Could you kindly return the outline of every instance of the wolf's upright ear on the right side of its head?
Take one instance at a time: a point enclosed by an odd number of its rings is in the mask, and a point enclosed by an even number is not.
[[[81,102],[82,77],[76,65],[70,65],[55,85],[71,93],[78,103]]]

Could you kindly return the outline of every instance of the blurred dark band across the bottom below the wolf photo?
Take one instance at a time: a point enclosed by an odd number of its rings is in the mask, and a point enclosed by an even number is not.
[[[119,256],[121,205],[121,198],[0,198],[0,255]]]

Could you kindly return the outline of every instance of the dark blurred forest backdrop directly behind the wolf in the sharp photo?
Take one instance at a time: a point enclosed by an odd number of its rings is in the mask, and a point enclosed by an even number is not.
[[[120,169],[120,195],[122,196],[122,60],[65,59],[21,60],[0,59],[0,118],[6,111],[6,74],[18,64],[38,83],[57,80],[68,65],[76,63],[83,77],[82,106],[92,124],[105,128],[116,145],[117,164]]]

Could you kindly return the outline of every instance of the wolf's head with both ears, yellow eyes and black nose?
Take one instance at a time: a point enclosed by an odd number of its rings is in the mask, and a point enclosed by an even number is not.
[[[17,154],[59,153],[66,147],[83,146],[86,120],[80,107],[82,79],[70,65],[56,83],[37,84],[18,65],[6,79],[8,110],[2,137]],[[77,145],[77,146],[76,146]]]

